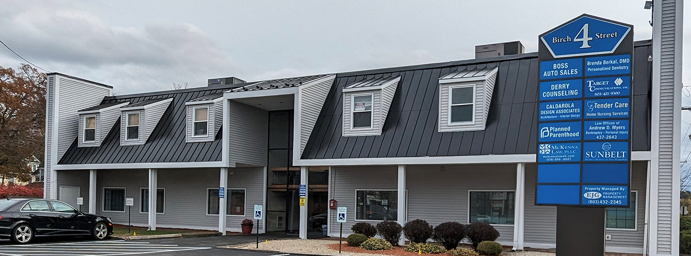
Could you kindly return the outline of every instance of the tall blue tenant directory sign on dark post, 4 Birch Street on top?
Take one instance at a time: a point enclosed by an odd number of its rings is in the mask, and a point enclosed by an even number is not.
[[[630,204],[633,37],[583,14],[538,38],[535,204],[557,206],[558,256],[604,255],[605,208]]]

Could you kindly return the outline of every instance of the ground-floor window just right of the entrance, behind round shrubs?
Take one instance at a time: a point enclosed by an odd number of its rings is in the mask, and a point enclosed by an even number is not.
[[[396,191],[357,191],[355,219],[397,220],[398,193]]]

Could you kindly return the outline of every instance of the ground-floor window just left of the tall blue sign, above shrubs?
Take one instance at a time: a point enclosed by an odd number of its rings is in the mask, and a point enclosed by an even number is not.
[[[470,223],[513,225],[515,192],[471,192]]]

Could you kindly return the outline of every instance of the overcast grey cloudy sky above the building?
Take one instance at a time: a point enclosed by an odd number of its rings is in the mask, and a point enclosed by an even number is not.
[[[217,77],[257,81],[473,59],[475,45],[504,41],[520,40],[534,52],[538,35],[583,13],[630,23],[634,39],[650,39],[644,3],[0,0],[0,40],[50,72],[128,94],[172,83],[206,86]],[[691,12],[685,14],[691,28]],[[691,29],[685,31],[683,81],[691,85]],[[0,48],[0,66],[22,62]],[[691,153],[690,111],[683,121],[682,160]]]

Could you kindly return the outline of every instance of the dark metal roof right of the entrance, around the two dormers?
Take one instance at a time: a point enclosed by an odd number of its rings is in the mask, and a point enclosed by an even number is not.
[[[650,41],[636,42],[632,148],[650,150]],[[536,54],[484,62],[437,63],[338,75],[302,159],[535,154],[538,112]],[[499,67],[485,130],[438,132],[438,80],[453,72]],[[343,87],[376,77],[401,76],[379,136],[343,137]]]

